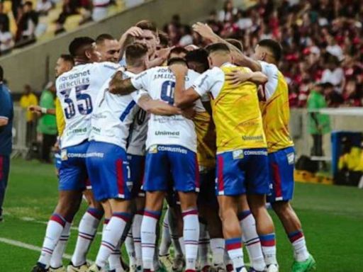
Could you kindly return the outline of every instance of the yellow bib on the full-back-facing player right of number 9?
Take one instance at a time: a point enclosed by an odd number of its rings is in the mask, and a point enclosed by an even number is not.
[[[225,66],[214,69],[222,69],[224,74],[236,69],[250,72],[244,67]],[[216,124],[218,152],[266,147],[256,84],[245,81],[233,86],[230,81],[225,80],[211,105]]]

